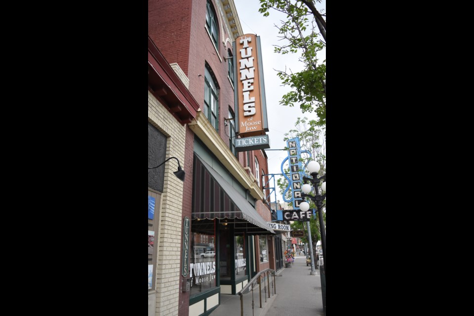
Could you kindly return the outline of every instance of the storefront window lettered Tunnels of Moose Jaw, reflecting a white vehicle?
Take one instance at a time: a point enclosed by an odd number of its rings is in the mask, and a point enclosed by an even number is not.
[[[191,232],[191,295],[216,287],[215,235]]]

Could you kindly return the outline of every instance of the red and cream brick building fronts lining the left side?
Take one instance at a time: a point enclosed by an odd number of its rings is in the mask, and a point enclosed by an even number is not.
[[[157,152],[176,157],[186,173],[181,181],[176,160],[166,162],[160,191],[150,188],[149,171],[149,199],[159,200],[154,226],[149,219],[158,245],[149,254],[149,316],[209,315],[221,295],[276,267],[261,178],[267,157],[232,146],[233,42],[243,33],[233,0],[149,0],[148,35],[149,130],[166,140],[154,149],[149,132],[149,167]]]

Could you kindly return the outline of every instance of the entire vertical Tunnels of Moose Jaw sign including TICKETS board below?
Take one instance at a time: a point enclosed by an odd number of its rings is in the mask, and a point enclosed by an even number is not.
[[[270,148],[260,37],[245,34],[233,45],[236,150]]]

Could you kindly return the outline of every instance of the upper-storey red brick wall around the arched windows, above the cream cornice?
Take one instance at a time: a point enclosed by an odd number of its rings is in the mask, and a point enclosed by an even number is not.
[[[189,78],[189,91],[201,110],[204,104],[204,65],[205,62],[209,64],[220,89],[218,133],[229,146],[229,127],[224,126],[224,118],[229,118],[229,106],[234,109],[234,89],[228,79],[228,62],[224,57],[227,57],[228,49],[233,49],[232,42],[224,43],[224,40],[233,41],[233,38],[225,27],[221,27],[225,22],[215,0],[211,1],[219,21],[219,53],[205,28],[206,0],[149,0],[148,33],[166,60],[178,63]],[[243,166],[243,154],[239,153],[238,157]]]

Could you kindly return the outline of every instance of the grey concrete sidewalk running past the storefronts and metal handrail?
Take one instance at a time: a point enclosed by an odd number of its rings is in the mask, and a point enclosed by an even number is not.
[[[262,287],[262,308],[258,296],[258,286],[254,289],[253,316],[314,315],[323,316],[321,278],[310,275],[311,266],[306,266],[305,256],[296,256],[291,268],[283,268],[276,273],[276,295],[267,292],[267,303]],[[262,284],[263,286],[263,284]],[[270,286],[272,286],[270,282]],[[252,316],[252,292],[243,297],[244,316]],[[239,316],[240,297],[221,294],[221,305],[211,316]]]

